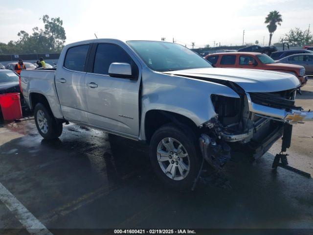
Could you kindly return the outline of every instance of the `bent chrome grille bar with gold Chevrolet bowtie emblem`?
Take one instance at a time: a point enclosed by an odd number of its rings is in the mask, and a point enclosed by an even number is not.
[[[313,111],[286,111],[284,109],[276,109],[253,103],[248,93],[246,93],[246,97],[248,100],[249,111],[255,113],[257,116],[287,122],[290,124],[303,123],[304,121],[313,120]]]

